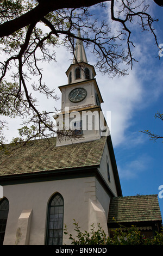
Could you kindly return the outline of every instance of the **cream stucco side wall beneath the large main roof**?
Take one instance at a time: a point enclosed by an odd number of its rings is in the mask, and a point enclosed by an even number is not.
[[[109,206],[109,197],[94,177],[17,184],[3,188],[4,196],[9,200],[4,245],[15,245],[18,218],[27,209],[32,210],[29,245],[45,245],[47,205],[55,192],[64,198],[64,223],[74,236],[73,219],[79,222],[81,231],[88,230],[91,218],[89,200],[96,203],[98,197],[106,211]],[[70,242],[68,236],[64,235],[63,244],[68,245]]]

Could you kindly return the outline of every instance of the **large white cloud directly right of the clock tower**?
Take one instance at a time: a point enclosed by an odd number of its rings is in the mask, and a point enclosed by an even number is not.
[[[126,139],[126,129],[142,101],[142,84],[134,71],[113,80],[97,75],[97,81],[104,100],[104,114],[111,111],[111,137],[116,147]]]

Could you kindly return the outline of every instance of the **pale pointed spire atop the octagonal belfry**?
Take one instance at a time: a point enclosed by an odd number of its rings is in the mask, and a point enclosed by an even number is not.
[[[80,35],[80,28],[78,28],[78,37],[81,38]],[[77,62],[85,62],[87,63],[87,58],[86,58],[86,54],[85,54],[85,50],[84,50],[84,45],[83,45],[83,41],[77,39],[77,44],[76,44],[76,50],[74,52],[75,57],[73,58],[73,64]]]

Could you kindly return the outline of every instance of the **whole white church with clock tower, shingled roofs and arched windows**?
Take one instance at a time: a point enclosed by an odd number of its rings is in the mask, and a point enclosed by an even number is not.
[[[57,135],[0,150],[0,245],[70,245],[64,228],[75,237],[73,220],[81,231],[100,223],[109,236],[117,228],[113,217],[146,235],[160,230],[157,195],[122,195],[96,72],[81,40],[66,75],[54,119],[77,138]]]

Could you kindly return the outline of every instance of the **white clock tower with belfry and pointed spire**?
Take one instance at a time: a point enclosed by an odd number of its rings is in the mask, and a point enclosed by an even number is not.
[[[78,39],[73,63],[66,71],[68,83],[60,86],[61,112],[54,116],[57,129],[65,136],[57,135],[57,146],[92,141],[108,136],[109,128],[101,109],[103,99],[99,91],[92,65],[87,62],[83,41]],[[70,139],[70,133],[74,138]],[[69,136],[69,137],[68,137]]]

